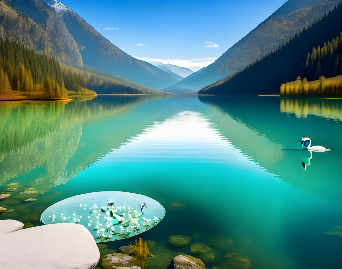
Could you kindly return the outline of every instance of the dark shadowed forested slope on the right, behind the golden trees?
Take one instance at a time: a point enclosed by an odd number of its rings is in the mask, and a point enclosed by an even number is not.
[[[297,76],[308,80],[341,72],[342,5],[284,46],[241,71],[202,88],[199,94],[276,93]],[[323,66],[323,68],[322,68]]]

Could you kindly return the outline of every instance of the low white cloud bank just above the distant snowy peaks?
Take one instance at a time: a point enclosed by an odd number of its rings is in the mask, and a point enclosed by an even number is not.
[[[209,64],[213,63],[216,58],[203,58],[203,59],[192,59],[192,60],[179,60],[179,59],[170,59],[170,60],[163,60],[163,59],[150,59],[147,57],[136,57],[139,60],[143,60],[145,62],[161,62],[163,64],[173,64],[181,67],[186,67],[191,69],[192,71],[198,71],[199,69],[208,66]]]

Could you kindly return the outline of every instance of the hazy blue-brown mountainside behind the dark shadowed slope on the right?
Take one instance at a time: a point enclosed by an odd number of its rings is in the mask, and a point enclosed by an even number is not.
[[[214,63],[194,73],[172,88],[201,89],[232,75],[249,63],[272,52],[279,45],[308,27],[340,0],[289,0],[244,38],[229,48]]]

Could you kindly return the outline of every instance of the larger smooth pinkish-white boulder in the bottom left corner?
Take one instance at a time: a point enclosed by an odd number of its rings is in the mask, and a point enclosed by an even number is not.
[[[0,268],[92,269],[100,259],[86,227],[56,223],[0,236]]]

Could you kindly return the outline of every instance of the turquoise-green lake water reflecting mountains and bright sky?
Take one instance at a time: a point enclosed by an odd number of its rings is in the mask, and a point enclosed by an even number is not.
[[[0,219],[42,225],[44,209],[74,195],[139,193],[166,209],[143,234],[161,257],[198,257],[190,245],[202,242],[216,256],[207,268],[228,252],[247,256],[250,268],[340,268],[342,237],[324,232],[342,224],[341,124],[338,99],[100,95],[1,103],[0,190],[16,190],[3,191],[11,196],[0,207],[15,211]],[[313,152],[306,170],[302,136],[331,149]],[[213,233],[234,243],[220,250],[210,245]],[[173,234],[192,243],[175,249]],[[252,244],[241,243],[246,237]]]

